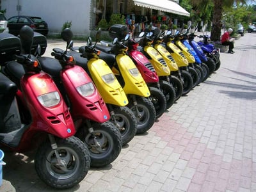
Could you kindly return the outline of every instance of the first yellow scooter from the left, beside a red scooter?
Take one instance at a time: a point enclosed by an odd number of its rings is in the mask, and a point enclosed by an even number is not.
[[[99,36],[100,31],[97,32],[97,40]],[[76,49],[77,47],[73,47],[70,55],[73,56],[76,65],[83,67],[92,77],[93,83],[108,106],[110,121],[118,127],[122,135],[123,145],[129,143],[137,132],[138,122],[132,110],[127,107],[129,100],[124,89],[111,68],[104,60],[100,60],[100,51],[92,45],[92,38],[88,38],[87,46],[79,47],[79,52]]]

